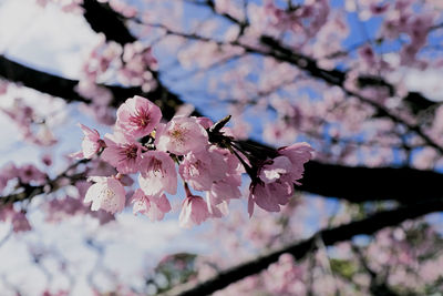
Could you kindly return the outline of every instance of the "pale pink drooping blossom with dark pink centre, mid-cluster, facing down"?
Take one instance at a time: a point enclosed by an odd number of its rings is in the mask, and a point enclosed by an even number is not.
[[[140,187],[147,195],[157,195],[163,191],[177,193],[177,171],[174,161],[163,151],[150,151],[143,155]]]

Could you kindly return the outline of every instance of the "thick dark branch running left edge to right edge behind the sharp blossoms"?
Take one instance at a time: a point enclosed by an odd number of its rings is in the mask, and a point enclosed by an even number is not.
[[[12,62],[4,57],[0,57],[0,75],[22,83],[24,86],[65,98],[66,101],[89,102],[74,91],[73,88],[78,81],[48,74]],[[123,101],[135,94],[143,95],[143,92],[137,88],[106,88],[119,99],[115,102]],[[153,93],[147,94],[147,98],[161,98],[162,92],[162,90],[155,90]],[[177,95],[171,92],[168,92],[168,95],[169,99],[161,101],[161,104],[164,102],[168,106],[162,108],[162,112],[166,119],[171,119],[174,115],[176,106],[182,103]],[[198,113],[195,114],[198,115]],[[440,197],[440,186],[443,184],[443,175],[431,171],[405,167],[349,167],[309,162],[306,165],[302,184],[298,190],[323,196],[346,198],[350,202],[395,200],[402,203],[410,203],[418,198]]]

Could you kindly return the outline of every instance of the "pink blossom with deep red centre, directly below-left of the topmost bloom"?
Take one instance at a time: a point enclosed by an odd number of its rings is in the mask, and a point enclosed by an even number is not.
[[[105,134],[106,147],[102,159],[117,169],[122,174],[136,173],[142,161],[142,145],[122,133]]]

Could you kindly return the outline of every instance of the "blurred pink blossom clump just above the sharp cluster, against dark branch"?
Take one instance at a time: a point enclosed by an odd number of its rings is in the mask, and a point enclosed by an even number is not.
[[[82,78],[75,91],[91,101],[84,105],[104,124],[115,122],[114,111],[110,108],[114,94],[100,83],[117,82],[124,86],[140,86],[144,92],[154,90],[157,84],[153,71],[158,68],[151,47],[135,41],[124,47],[116,42],[106,42],[103,34],[92,49],[82,68]]]

